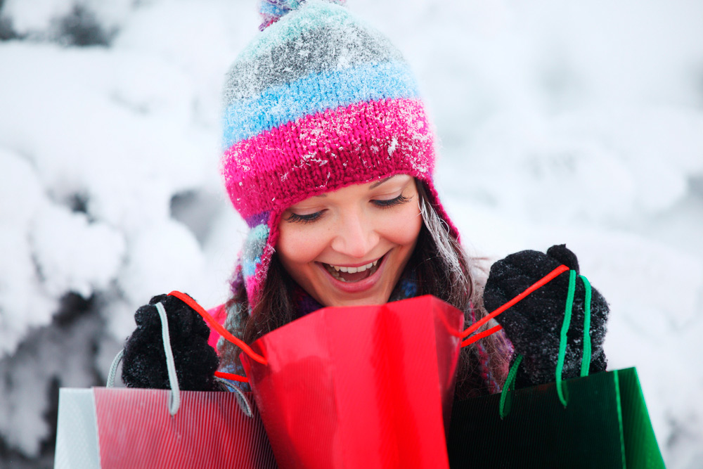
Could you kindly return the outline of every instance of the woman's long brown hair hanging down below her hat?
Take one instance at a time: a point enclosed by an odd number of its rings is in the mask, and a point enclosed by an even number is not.
[[[418,203],[423,216],[415,251],[406,266],[414,271],[418,295],[434,295],[465,311],[465,327],[486,315],[481,300],[482,285],[475,283],[468,257],[458,241],[449,233],[449,226],[439,217],[424,184],[418,181]],[[243,283],[233,281],[232,296],[226,307],[226,328],[247,344],[297,317],[297,304],[292,299],[295,283],[274,253],[266,276],[261,300],[250,304]],[[472,317],[473,316],[473,317]],[[495,391],[489,383],[502,385],[508,368],[508,347],[502,334],[481,340],[482,344],[462,349],[458,364],[456,398],[474,397]],[[219,342],[223,364],[239,365],[241,350],[224,340]]]

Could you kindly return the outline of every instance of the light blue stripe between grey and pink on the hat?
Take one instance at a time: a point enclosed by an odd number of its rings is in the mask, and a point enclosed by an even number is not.
[[[417,83],[405,63],[388,62],[314,73],[267,89],[254,98],[231,103],[224,115],[224,148],[328,109],[417,96]]]

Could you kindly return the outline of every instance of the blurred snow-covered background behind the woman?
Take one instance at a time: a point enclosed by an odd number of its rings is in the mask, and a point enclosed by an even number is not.
[[[254,3],[0,0],[0,467],[51,467],[58,387],[103,384],[151,295],[225,300],[219,93]],[[567,243],[667,465],[703,467],[703,2],[348,4],[418,73],[467,248]]]

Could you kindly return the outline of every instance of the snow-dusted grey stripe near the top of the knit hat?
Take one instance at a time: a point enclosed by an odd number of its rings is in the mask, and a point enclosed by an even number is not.
[[[229,106],[311,73],[392,60],[404,62],[400,51],[374,30],[359,25],[307,30],[295,41],[269,49],[254,60],[234,63],[227,73],[224,104]]]

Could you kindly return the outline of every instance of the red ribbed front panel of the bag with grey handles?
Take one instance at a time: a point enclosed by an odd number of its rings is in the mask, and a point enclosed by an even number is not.
[[[93,390],[103,468],[272,468],[261,420],[240,410],[233,392]],[[252,406],[253,407],[253,406]]]

